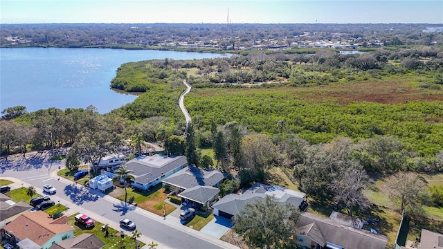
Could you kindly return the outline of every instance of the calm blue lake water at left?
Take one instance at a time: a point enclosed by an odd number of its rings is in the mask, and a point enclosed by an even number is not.
[[[0,48],[0,111],[57,107],[100,113],[133,102],[136,95],[110,89],[118,66],[146,59],[201,59],[220,54],[102,48]]]

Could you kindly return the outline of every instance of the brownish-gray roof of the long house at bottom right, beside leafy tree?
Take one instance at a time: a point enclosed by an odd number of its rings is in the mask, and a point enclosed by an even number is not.
[[[307,231],[307,225],[316,225],[316,230]],[[365,248],[365,249],[385,249],[388,237],[381,234],[373,234],[368,230],[356,229],[341,225],[325,217],[317,216],[309,212],[304,212],[298,219],[297,227],[300,232],[305,232],[311,239],[320,242],[318,231],[326,242],[334,243],[343,248]],[[310,236],[309,236],[310,237]],[[325,244],[321,245],[325,246]]]

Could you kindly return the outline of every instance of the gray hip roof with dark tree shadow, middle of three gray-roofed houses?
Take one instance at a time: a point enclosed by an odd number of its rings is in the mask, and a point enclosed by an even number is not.
[[[199,169],[197,167],[188,166],[179,172],[165,178],[162,182],[170,185],[188,189],[195,186],[215,187],[218,183],[226,178],[227,174],[218,170]]]

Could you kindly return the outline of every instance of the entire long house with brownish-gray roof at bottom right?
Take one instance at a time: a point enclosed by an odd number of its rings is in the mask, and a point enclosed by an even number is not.
[[[297,221],[296,243],[303,248],[386,249],[388,237],[352,228],[323,216],[304,212]]]

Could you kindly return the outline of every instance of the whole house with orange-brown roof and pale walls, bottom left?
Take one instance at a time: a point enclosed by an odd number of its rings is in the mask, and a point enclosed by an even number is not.
[[[8,241],[15,241],[19,248],[48,249],[55,242],[74,237],[69,218],[52,219],[43,211],[21,214],[4,227]]]

